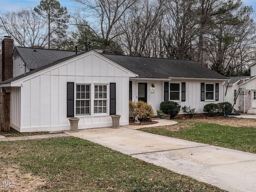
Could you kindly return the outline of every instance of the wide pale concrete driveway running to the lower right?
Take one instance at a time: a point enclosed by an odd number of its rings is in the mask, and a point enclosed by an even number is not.
[[[121,127],[66,132],[230,192],[256,192],[256,154]]]

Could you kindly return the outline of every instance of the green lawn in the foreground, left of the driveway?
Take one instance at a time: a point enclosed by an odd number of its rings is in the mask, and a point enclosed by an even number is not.
[[[0,142],[0,151],[3,163],[47,179],[39,191],[224,192],[79,138]]]

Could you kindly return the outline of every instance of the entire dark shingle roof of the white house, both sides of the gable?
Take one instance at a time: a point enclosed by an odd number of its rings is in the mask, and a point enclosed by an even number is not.
[[[20,55],[26,62],[31,65],[30,72],[22,74],[20,76],[11,78],[0,84],[10,83],[18,80],[24,76],[28,76],[70,58],[76,57],[75,52],[60,51],[60,50],[48,50],[48,49],[36,49],[38,52],[34,52],[35,48],[16,47],[21,53]],[[81,52],[79,52],[81,53]],[[71,56],[67,56],[71,54]],[[213,79],[228,79],[204,66],[197,64],[196,62],[189,60],[175,60],[175,59],[163,59],[163,58],[149,58],[149,57],[137,57],[137,56],[121,56],[102,54],[110,60],[120,64],[124,68],[139,75],[139,78],[213,78]],[[56,60],[60,58],[59,60]],[[33,64],[35,66],[33,66]]]

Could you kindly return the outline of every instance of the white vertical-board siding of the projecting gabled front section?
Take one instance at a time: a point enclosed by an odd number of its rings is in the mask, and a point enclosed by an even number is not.
[[[14,84],[21,87],[20,132],[69,130],[67,118],[67,82],[86,84],[116,83],[116,114],[120,125],[127,125],[129,76],[135,76],[94,51],[28,76]],[[92,105],[91,105],[92,108]],[[78,116],[79,129],[112,126],[108,114]]]

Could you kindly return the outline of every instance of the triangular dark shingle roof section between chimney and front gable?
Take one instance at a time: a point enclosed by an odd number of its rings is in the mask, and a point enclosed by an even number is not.
[[[19,47],[19,46],[15,48],[30,70],[41,68],[42,66],[45,66],[49,63],[52,63],[62,58],[66,58],[76,54],[75,51],[29,48],[29,47]],[[82,52],[78,52],[78,53],[82,53]]]

